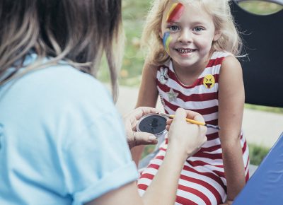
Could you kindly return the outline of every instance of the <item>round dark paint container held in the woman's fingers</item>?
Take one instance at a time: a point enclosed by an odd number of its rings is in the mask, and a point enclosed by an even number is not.
[[[137,123],[137,131],[144,131],[154,134],[156,137],[167,132],[166,120],[168,117],[158,114],[144,115]]]

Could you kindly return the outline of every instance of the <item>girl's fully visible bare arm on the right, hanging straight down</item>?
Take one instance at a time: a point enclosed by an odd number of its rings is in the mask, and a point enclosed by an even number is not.
[[[226,57],[219,75],[219,137],[227,180],[227,200],[233,201],[246,185],[240,143],[245,91],[241,64]]]

